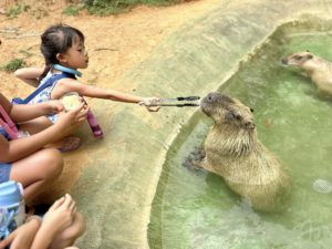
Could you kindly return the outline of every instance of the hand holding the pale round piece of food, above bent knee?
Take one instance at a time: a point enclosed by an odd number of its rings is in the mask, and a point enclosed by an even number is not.
[[[87,113],[87,105],[82,103],[80,106],[70,112],[60,113],[59,121],[55,123],[55,125],[60,126],[64,134],[70,134],[80,125],[82,125],[83,121],[86,120]]]

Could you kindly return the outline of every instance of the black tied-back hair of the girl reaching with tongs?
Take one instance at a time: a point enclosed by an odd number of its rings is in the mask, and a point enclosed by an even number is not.
[[[40,50],[45,60],[45,70],[40,80],[48,74],[53,64],[59,64],[56,54],[65,53],[76,37],[84,42],[84,34],[80,30],[62,23],[51,25],[42,33]]]

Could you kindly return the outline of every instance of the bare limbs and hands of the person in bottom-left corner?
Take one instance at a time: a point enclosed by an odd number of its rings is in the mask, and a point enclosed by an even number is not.
[[[0,241],[0,248],[10,245],[10,249],[77,249],[70,246],[84,230],[83,216],[76,211],[72,197],[65,195],[52,205],[42,221],[39,217],[31,216],[25,224]]]

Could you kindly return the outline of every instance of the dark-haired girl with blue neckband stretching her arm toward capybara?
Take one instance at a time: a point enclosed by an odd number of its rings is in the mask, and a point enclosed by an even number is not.
[[[73,74],[80,75],[77,69],[86,69],[89,56],[84,46],[83,33],[70,25],[56,24],[50,27],[41,35],[41,52],[45,60],[45,68],[28,68],[15,71],[15,76],[34,87],[42,86],[46,81],[52,81],[52,85],[41,91],[30,103],[39,103],[46,100],[59,100],[65,93],[76,92],[81,96],[105,98],[126,103],[151,103],[157,101],[156,97],[141,97],[125,94],[112,90],[102,90],[79,82]],[[56,74],[70,72],[71,75],[58,80]],[[147,106],[148,111],[157,111],[156,106]],[[52,123],[56,122],[55,116],[51,116]]]

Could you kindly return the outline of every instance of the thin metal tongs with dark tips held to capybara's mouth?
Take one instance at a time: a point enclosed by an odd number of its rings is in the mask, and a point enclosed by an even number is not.
[[[173,98],[156,98],[143,101],[139,105],[144,106],[175,106],[175,107],[184,107],[184,106],[199,106],[198,103],[193,103],[194,101],[198,101],[199,96],[179,96]]]

